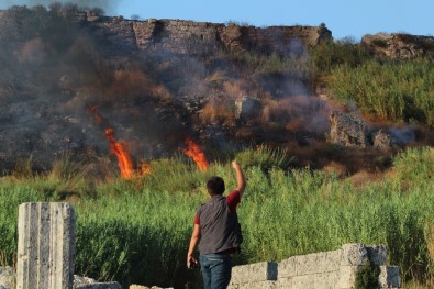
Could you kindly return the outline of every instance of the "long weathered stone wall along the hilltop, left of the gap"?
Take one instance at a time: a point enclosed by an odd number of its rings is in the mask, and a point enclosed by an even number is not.
[[[89,21],[89,20],[88,20]],[[186,20],[146,21],[100,18],[90,22],[101,29],[108,41],[123,49],[164,52],[188,55],[212,55],[225,52],[300,53],[331,40],[323,26],[241,26]]]

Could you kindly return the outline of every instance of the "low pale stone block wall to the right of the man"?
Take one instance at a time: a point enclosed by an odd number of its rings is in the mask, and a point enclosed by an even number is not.
[[[280,263],[235,266],[229,289],[350,289],[368,259],[380,267],[381,288],[401,287],[399,268],[386,265],[385,246],[345,244],[337,251],[293,256]]]

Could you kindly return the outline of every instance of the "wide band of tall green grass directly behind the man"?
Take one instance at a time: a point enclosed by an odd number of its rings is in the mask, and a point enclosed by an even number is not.
[[[432,148],[402,152],[389,178],[357,188],[322,171],[288,170],[283,152],[255,149],[237,154],[247,178],[238,209],[245,241],[237,264],[360,242],[387,244],[389,263],[400,266],[404,280],[432,279]],[[203,173],[173,158],[154,160],[151,175],[113,179],[96,185],[92,194],[85,192],[74,202],[76,273],[125,287],[197,285],[198,276],[185,269],[185,259],[194,211],[208,198],[204,181],[211,175],[222,176],[227,190],[235,187],[229,163],[212,164]],[[0,249],[10,263],[16,253],[18,205],[57,198],[35,186],[43,181],[10,178],[0,185]]]

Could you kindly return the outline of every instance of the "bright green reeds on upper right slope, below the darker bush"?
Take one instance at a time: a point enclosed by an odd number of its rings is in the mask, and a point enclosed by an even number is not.
[[[332,70],[329,86],[344,102],[378,119],[434,126],[434,66],[432,60],[368,60]]]

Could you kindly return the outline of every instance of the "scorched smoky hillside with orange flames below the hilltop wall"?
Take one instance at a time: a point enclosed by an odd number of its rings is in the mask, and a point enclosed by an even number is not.
[[[260,46],[270,48],[265,51],[211,52],[203,45],[215,37],[191,38],[191,31],[180,30],[188,37],[170,38],[177,31],[166,24],[176,21],[90,21],[80,13],[58,13],[68,12],[69,5],[57,8],[57,12],[15,8],[0,18],[4,174],[26,159],[36,164],[35,170],[47,171],[55,159],[70,153],[93,165],[98,177],[110,175],[116,169],[111,163],[118,162],[121,176],[131,178],[152,173],[147,159],[179,151],[207,170],[214,160],[203,153],[209,148],[218,157],[225,149],[256,145],[290,148],[300,167],[348,165],[357,157],[353,162],[357,170],[361,160],[374,163],[367,151],[381,156],[397,145],[434,144],[434,133],[416,125],[365,123],[357,119],[364,119],[360,113],[330,118],[332,111],[345,109],[332,103],[325,88],[316,93],[312,55],[297,37],[280,43],[281,34],[270,35],[272,43]],[[16,21],[20,16],[32,21]],[[137,41],[135,33],[148,31],[147,25],[155,33],[141,33],[148,38]],[[177,45],[167,46],[168,42]],[[244,47],[238,44],[233,48]],[[269,54],[274,45],[286,48],[279,49],[282,55]],[[356,149],[361,153],[354,154]]]

